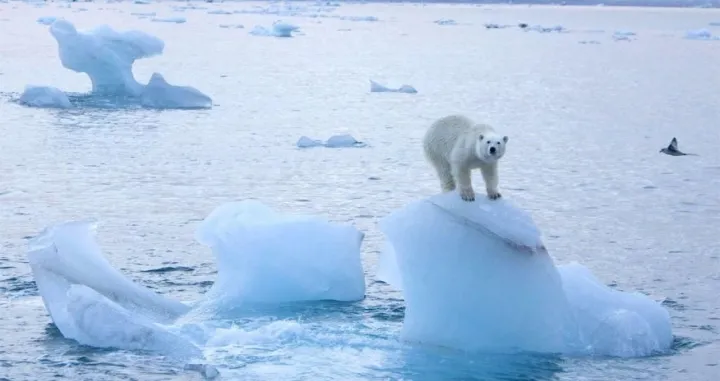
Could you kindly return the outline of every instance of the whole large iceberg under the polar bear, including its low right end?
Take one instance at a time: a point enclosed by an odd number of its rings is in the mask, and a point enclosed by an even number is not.
[[[618,357],[670,349],[667,310],[581,265],[556,267],[532,218],[507,199],[442,193],[394,211],[380,229],[388,242],[378,277],[404,295],[404,340]]]

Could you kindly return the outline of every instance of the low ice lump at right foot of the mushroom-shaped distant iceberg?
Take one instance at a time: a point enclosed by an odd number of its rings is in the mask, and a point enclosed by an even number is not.
[[[167,83],[159,73],[153,73],[140,95],[145,107],[158,109],[196,109],[212,107],[212,99],[190,86],[175,86]]]

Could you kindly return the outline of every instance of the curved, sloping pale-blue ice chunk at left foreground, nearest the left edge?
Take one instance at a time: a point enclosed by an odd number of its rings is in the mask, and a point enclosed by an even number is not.
[[[29,242],[30,269],[53,323],[63,336],[88,345],[110,340],[97,326],[102,322],[86,319],[88,313],[95,317],[107,313],[103,319],[113,324],[120,319],[139,331],[157,328],[158,335],[165,335],[160,327],[147,322],[172,321],[189,307],[139,286],[115,270],[102,256],[94,229],[93,222],[64,223],[46,228]],[[132,344],[111,345],[128,348]]]

